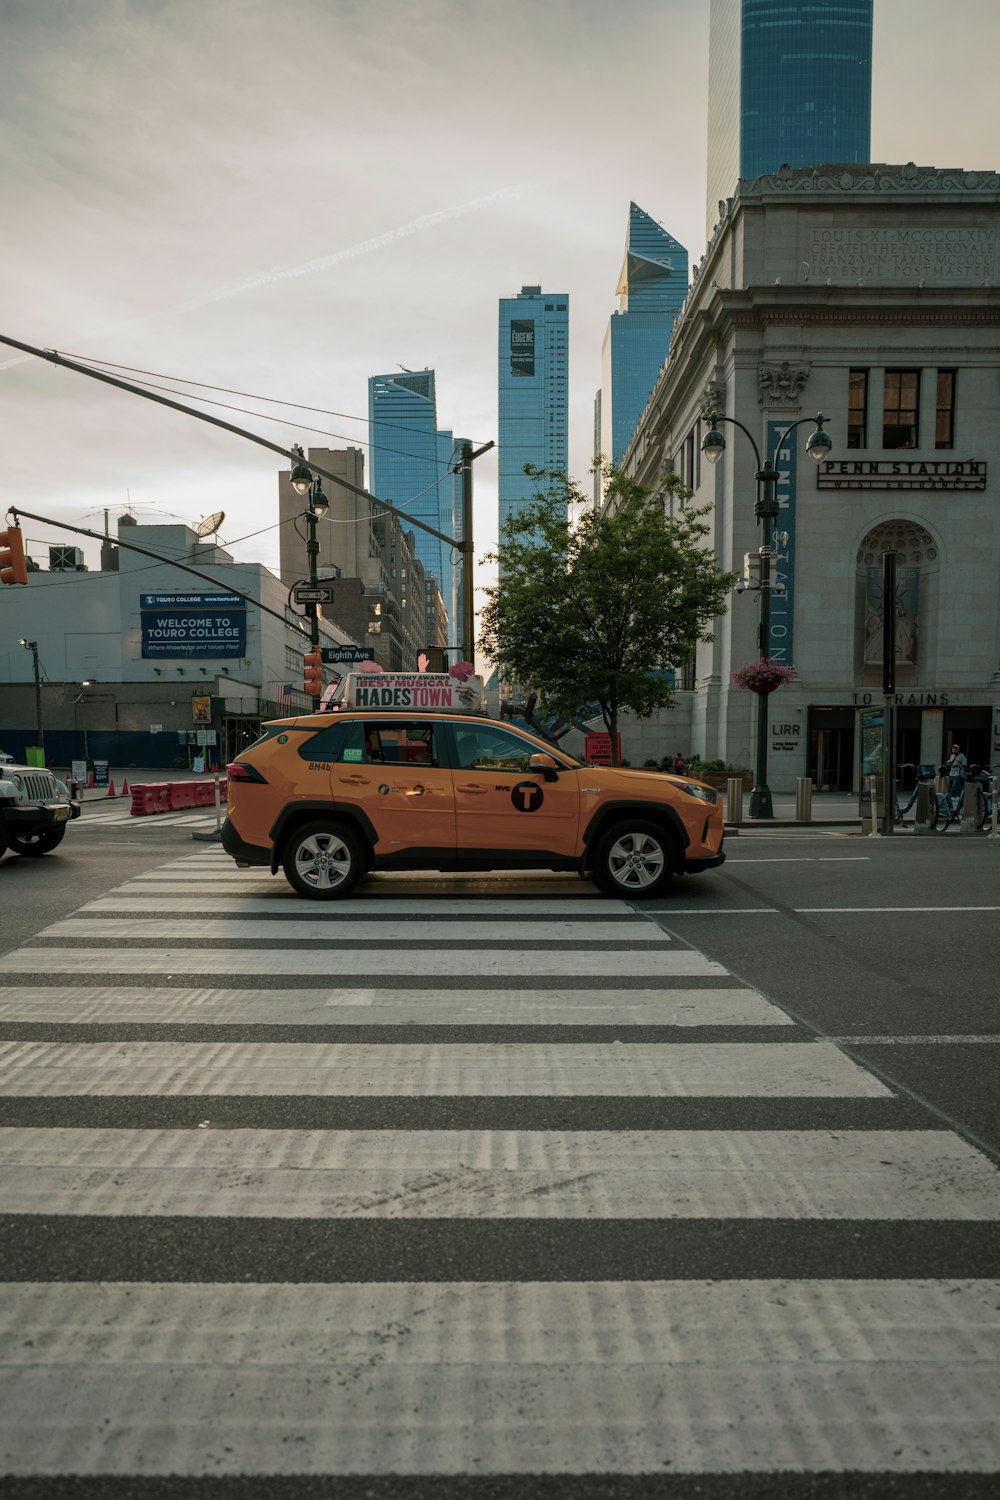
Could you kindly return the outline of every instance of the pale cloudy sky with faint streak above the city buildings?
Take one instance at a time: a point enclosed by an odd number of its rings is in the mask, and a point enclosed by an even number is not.
[[[439,424],[478,446],[496,438],[498,298],[541,284],[570,298],[570,470],[588,488],[630,200],[691,264],[705,249],[708,12],[0,0],[0,333],[249,393],[205,392],[243,411],[204,410],[306,448],[364,447],[369,375],[432,366]],[[876,0],[873,160],[1000,166],[999,52],[997,0]],[[115,532],[124,510],[222,510],[232,555],[276,570],[280,466],[0,346],[0,514],[100,531],[108,512]],[[76,542],[97,564],[96,543],[24,534],[42,561]],[[495,542],[490,453],[477,556]]]

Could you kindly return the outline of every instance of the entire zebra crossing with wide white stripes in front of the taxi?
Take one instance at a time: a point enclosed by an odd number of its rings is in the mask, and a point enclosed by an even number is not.
[[[994,1166],[579,880],[399,890],[3,957],[4,1494],[991,1492]]]

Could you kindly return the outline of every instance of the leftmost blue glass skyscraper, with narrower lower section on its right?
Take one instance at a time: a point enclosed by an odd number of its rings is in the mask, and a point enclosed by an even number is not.
[[[370,489],[414,520],[457,537],[462,512],[454,514],[456,446],[438,430],[433,370],[405,370],[369,378]],[[405,522],[403,522],[405,525]],[[415,550],[424,573],[433,574],[448,610],[448,640],[456,639],[454,600],[459,588],[454,548],[414,528]]]

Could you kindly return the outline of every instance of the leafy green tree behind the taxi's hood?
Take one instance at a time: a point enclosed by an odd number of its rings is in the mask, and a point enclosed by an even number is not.
[[[676,474],[654,494],[610,470],[597,512],[571,478],[528,472],[546,488],[501,528],[480,648],[559,714],[600,704],[616,764],[618,716],[648,718],[673,700],[652,669],[690,662],[712,639],[736,574],[717,566],[706,510],[682,504],[691,490]]]

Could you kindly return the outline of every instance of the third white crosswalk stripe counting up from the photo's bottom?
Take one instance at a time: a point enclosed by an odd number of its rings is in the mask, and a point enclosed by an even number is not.
[[[588,954],[588,957],[591,957]],[[892,1098],[832,1042],[0,1042],[7,1096]]]

